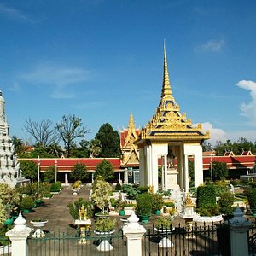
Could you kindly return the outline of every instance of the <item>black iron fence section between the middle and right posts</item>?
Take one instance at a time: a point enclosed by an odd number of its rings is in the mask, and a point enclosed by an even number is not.
[[[143,255],[230,255],[230,230],[225,224],[203,224],[147,230]]]

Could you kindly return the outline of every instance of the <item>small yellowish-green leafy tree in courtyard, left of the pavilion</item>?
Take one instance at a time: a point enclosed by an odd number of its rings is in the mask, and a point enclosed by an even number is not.
[[[109,194],[112,191],[108,182],[98,180],[91,194],[91,200],[96,207],[99,207],[102,213],[105,212],[109,204]]]

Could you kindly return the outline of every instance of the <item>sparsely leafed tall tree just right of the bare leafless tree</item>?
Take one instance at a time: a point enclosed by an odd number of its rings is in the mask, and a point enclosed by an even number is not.
[[[89,130],[85,129],[82,125],[82,119],[80,119],[79,116],[69,114],[63,115],[61,123],[55,126],[67,150],[67,157],[71,154],[71,148],[75,144],[75,139],[84,137],[85,134],[89,132]]]

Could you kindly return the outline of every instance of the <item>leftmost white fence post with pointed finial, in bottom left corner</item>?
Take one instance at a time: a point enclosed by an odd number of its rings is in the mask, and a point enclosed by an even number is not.
[[[25,224],[26,219],[22,217],[20,212],[18,218],[15,219],[15,227],[5,234],[6,236],[9,236],[9,239],[12,242],[12,256],[28,255],[26,239],[32,229]]]

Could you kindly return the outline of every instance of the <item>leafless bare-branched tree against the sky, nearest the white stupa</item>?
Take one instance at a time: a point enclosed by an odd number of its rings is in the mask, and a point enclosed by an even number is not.
[[[58,140],[58,135],[52,125],[53,123],[49,119],[33,121],[29,118],[22,130],[34,138],[35,144],[45,147]]]

